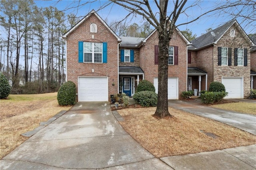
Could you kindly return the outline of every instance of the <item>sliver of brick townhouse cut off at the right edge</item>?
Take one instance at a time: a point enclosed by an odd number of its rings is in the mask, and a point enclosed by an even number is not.
[[[256,34],[250,37],[252,42],[256,44]],[[256,89],[256,45],[250,49],[251,53],[251,89]]]

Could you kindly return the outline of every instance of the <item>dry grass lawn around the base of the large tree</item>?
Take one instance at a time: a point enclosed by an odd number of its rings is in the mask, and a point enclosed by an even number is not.
[[[122,127],[156,157],[256,144],[256,136],[238,128],[169,107],[174,117],[155,119],[156,107],[118,110]],[[200,132],[216,134],[214,139]]]

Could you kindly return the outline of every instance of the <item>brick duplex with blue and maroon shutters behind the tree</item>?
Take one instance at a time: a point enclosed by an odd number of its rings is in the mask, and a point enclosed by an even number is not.
[[[78,101],[110,101],[110,95],[134,95],[140,80],[158,91],[158,37],[119,37],[92,10],[63,35],[66,40],[67,77],[76,83]],[[187,46],[177,29],[169,47],[168,99],[186,91]],[[120,85],[120,86],[119,86]]]

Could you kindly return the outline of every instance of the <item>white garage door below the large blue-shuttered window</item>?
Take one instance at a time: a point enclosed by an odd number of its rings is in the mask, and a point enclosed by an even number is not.
[[[108,101],[108,77],[78,77],[78,101]]]

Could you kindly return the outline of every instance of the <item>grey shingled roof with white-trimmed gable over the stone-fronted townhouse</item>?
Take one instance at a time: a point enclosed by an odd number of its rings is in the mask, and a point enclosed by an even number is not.
[[[247,34],[244,32],[242,27],[238,24],[238,22],[234,19],[226,24],[212,30],[211,32],[207,32],[206,34],[203,34],[202,36],[199,36],[198,38],[191,41],[192,45],[190,45],[189,49],[201,49],[204,47],[207,47],[212,44],[218,43],[218,41],[224,36],[224,34],[231,28],[231,26],[235,25],[235,27],[238,29],[238,31],[242,34],[242,36],[249,40],[252,45],[254,43],[250,40],[250,38],[247,36]]]

